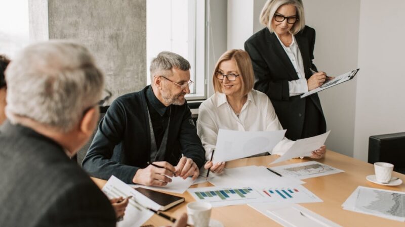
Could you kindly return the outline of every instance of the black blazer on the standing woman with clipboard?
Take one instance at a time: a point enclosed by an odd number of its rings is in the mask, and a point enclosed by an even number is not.
[[[315,30],[305,26],[302,31],[295,35],[295,38],[302,55],[305,78],[309,79],[312,75],[310,68],[316,70],[312,64]],[[270,33],[266,27],[245,42],[245,50],[252,60],[256,77],[255,89],[264,92],[271,99],[282,127],[287,129],[286,137],[292,140],[300,139],[305,121],[319,121],[318,134],[325,132],[326,121],[318,95],[313,94],[302,99],[299,95],[290,97],[288,82],[299,78],[276,35]],[[314,109],[308,111],[306,108]],[[305,116],[305,113],[313,111],[319,111],[317,117]]]

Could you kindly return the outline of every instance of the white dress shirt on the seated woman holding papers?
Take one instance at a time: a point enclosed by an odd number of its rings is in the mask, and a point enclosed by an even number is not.
[[[282,130],[282,127],[267,95],[252,90],[240,110],[239,117],[236,116],[226,99],[226,95],[223,93],[217,92],[199,106],[197,133],[206,150],[207,160],[210,160],[211,152],[217,144],[219,129],[275,131]],[[285,137],[274,147],[271,153],[284,154],[293,143],[294,141]],[[262,155],[264,154],[267,154],[267,152]]]

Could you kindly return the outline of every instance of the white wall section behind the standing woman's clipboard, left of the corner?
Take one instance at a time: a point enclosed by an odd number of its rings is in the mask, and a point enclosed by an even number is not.
[[[356,69],[360,0],[304,0],[303,4],[306,24],[316,31],[318,70],[333,76]],[[327,148],[349,156],[353,155],[355,96],[356,79],[319,93],[331,130]]]

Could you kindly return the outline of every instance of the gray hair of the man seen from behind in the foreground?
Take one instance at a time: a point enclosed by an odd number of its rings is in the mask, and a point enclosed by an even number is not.
[[[13,124],[23,117],[62,132],[96,106],[104,87],[88,49],[62,40],[23,49],[7,68],[6,80],[6,114]]]

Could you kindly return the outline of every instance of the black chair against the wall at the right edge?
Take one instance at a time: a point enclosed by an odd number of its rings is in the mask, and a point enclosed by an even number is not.
[[[370,136],[369,163],[394,164],[394,171],[405,174],[405,132]]]

